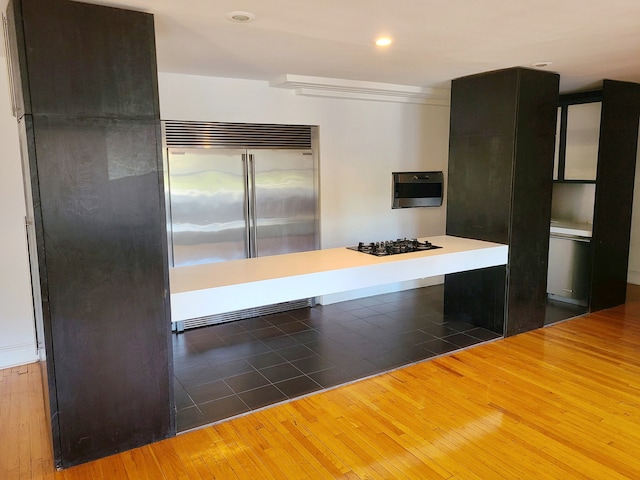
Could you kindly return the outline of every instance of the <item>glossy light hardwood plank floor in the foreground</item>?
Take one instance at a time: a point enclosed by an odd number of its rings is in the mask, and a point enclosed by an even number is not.
[[[0,371],[0,479],[639,479],[640,295],[54,472],[37,365]]]

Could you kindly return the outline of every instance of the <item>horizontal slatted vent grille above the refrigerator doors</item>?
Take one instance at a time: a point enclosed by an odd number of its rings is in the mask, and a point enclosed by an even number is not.
[[[310,125],[165,120],[167,147],[311,148]]]

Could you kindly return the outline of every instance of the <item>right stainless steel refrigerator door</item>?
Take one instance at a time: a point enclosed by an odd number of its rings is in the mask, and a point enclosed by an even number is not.
[[[254,256],[318,248],[311,150],[249,150]]]

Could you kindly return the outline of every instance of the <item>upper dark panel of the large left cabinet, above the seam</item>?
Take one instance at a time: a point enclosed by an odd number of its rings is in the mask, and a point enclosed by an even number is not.
[[[12,3],[8,13],[22,17],[11,23],[28,42],[14,65],[26,113],[157,115],[153,16],[68,0]]]

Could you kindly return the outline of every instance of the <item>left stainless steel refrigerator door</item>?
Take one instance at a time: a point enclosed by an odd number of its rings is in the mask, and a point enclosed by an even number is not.
[[[175,267],[247,257],[244,153],[241,149],[169,149]]]

